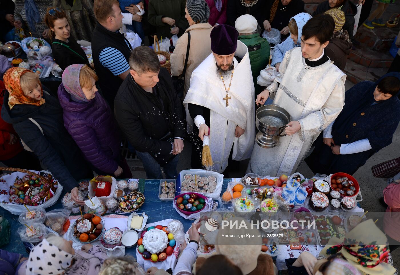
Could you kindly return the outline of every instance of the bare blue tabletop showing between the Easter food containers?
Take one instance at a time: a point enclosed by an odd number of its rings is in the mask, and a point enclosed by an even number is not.
[[[224,179],[224,185],[222,186],[222,192],[224,192],[228,186],[228,182],[230,182],[230,179]],[[157,222],[160,220],[165,220],[165,219],[177,219],[180,220],[185,228],[185,231],[187,231],[192,224],[192,221],[186,220],[182,218],[178,212],[172,207],[172,202],[173,201],[161,201],[158,199],[158,190],[159,190],[159,185],[160,185],[160,180],[146,180],[145,182],[145,189],[144,189],[144,197],[145,201],[144,204],[142,205],[141,209],[138,210],[138,213],[145,212],[146,215],[148,216],[147,223],[153,223]],[[62,208],[61,205],[61,199],[57,201],[56,204],[53,206],[46,208],[46,211],[50,211],[53,209],[58,209]],[[108,213],[112,214],[112,213]],[[8,220],[8,222],[11,224],[11,235],[10,235],[10,243],[8,245],[5,245],[1,247],[1,249],[7,250],[7,251],[12,251],[16,253],[21,253],[26,257],[28,253],[25,251],[25,246],[22,243],[20,236],[17,233],[18,227],[21,226],[18,222],[18,216],[13,215],[10,212],[4,210],[3,208],[0,208],[0,215],[3,215],[4,218]],[[76,215],[76,214],[72,214]],[[107,215],[107,214],[106,214]],[[125,214],[126,216],[129,216],[129,214]],[[136,246],[132,248],[126,248],[126,254],[128,255],[133,255],[136,257]]]

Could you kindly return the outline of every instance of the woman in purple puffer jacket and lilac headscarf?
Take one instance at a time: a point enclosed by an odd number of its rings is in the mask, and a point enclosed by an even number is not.
[[[110,107],[97,93],[97,80],[88,65],[66,67],[58,87],[64,126],[98,175],[131,178],[120,154],[120,137]]]

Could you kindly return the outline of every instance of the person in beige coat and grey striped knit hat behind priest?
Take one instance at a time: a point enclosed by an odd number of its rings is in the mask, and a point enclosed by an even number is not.
[[[184,95],[185,98],[190,86],[190,76],[192,72],[208,55],[211,53],[210,33],[212,26],[208,23],[210,9],[204,0],[188,0],[186,2],[186,19],[189,22],[189,28],[176,42],[174,53],[171,55],[171,74],[180,76],[183,72],[188,48],[188,32],[190,32],[190,48],[188,57],[188,66],[184,75]]]

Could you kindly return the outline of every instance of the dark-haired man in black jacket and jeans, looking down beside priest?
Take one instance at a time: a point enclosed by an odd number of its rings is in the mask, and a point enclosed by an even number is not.
[[[146,46],[132,51],[129,65],[130,75],[114,100],[118,125],[136,149],[147,178],[163,178],[160,167],[167,178],[176,178],[184,122],[170,74]]]

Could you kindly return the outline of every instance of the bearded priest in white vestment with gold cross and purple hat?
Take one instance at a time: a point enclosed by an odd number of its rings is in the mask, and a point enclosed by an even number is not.
[[[246,45],[228,25],[211,31],[212,53],[193,71],[184,100],[193,129],[192,168],[202,168],[204,135],[209,135],[216,172],[250,158],[255,138],[254,84]],[[236,163],[237,165],[238,163]]]

